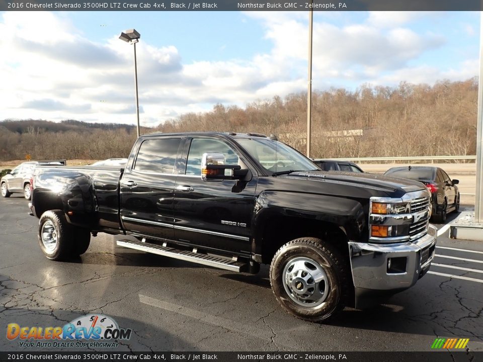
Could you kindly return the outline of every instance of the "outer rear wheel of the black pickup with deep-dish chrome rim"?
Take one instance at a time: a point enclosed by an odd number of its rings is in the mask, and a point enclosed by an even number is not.
[[[62,210],[49,210],[39,220],[40,249],[51,260],[65,260],[72,256],[74,228],[67,223]]]

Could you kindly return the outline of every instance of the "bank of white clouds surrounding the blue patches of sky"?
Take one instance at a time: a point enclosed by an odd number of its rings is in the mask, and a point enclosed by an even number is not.
[[[250,59],[204,59],[183,64],[176,46],[136,45],[141,123],[155,125],[216,103],[245,106],[257,99],[284,97],[307,85],[307,14],[247,12],[262,22],[271,49]],[[432,83],[466,79],[475,60],[449,69],[418,63],[445,39],[408,26],[423,13],[369,13],[350,25],[318,17],[313,34],[313,89],[392,85],[402,80]],[[342,17],[337,14],[337,17]],[[320,19],[323,19],[320,21]],[[37,38],[39,29],[50,33]],[[11,12],[0,20],[0,97],[6,118],[44,118],[134,123],[132,46],[114,36],[92,42],[58,13]]]

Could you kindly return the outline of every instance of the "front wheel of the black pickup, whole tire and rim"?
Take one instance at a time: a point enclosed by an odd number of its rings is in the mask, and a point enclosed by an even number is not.
[[[323,274],[318,283],[312,278]],[[292,240],[275,253],[270,284],[283,309],[312,322],[327,320],[342,310],[353,289],[348,261],[335,247],[312,237]]]

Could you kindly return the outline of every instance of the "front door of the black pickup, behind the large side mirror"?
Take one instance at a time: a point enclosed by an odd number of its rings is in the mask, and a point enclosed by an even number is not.
[[[222,153],[225,164],[249,168],[243,155],[227,141],[196,137],[187,141],[185,169],[175,187],[175,237],[200,248],[249,253],[257,177],[249,181],[201,179],[201,156]]]

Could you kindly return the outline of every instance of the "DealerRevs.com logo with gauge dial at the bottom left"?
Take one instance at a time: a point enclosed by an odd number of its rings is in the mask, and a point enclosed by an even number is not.
[[[63,327],[7,325],[7,338],[19,340],[21,348],[117,347],[117,340],[131,338],[132,330],[119,328],[117,322],[102,314],[74,319]]]

